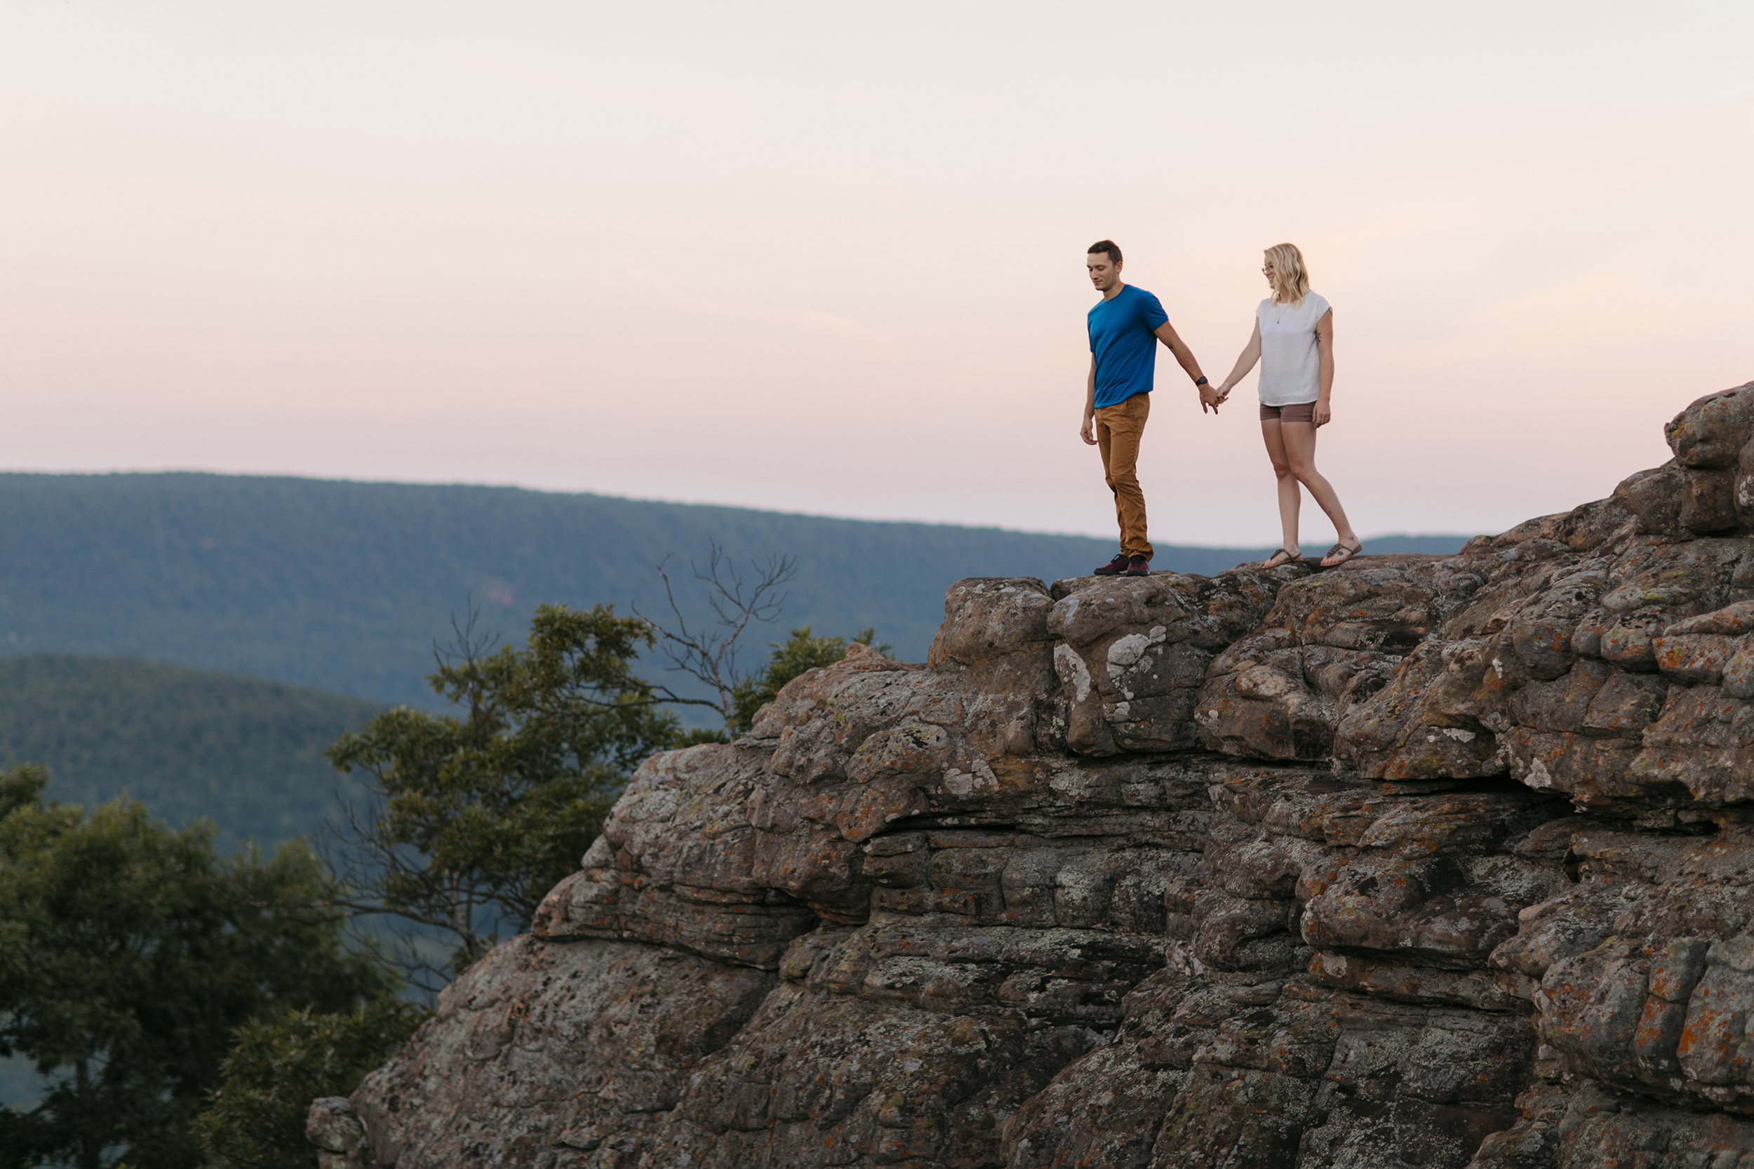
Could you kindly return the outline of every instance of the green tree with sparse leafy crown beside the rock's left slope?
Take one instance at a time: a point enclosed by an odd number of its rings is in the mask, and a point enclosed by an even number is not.
[[[447,936],[451,972],[502,925],[528,929],[633,765],[681,739],[660,709],[668,692],[633,674],[652,642],[645,620],[609,606],[542,606],[521,649],[486,653],[461,627],[428,679],[461,714],[398,707],[330,748],[374,793],[333,839],[337,869],[363,890],[349,906]]]

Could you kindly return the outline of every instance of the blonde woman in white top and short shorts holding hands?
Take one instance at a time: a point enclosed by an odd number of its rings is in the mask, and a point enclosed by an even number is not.
[[[1316,470],[1316,428],[1326,427],[1331,418],[1333,309],[1310,291],[1303,253],[1294,244],[1273,244],[1265,255],[1261,274],[1273,295],[1254,311],[1254,335],[1217,393],[1219,400],[1226,398],[1231,386],[1247,377],[1256,362],[1261,363],[1261,437],[1279,476],[1279,523],[1284,528],[1284,544],[1261,567],[1277,569],[1300,556],[1301,483],[1333,520],[1340,537],[1321,558],[1323,567],[1331,569],[1365,551],[1333,484]]]

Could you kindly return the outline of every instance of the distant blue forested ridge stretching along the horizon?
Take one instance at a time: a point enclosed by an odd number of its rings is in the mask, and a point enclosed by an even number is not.
[[[875,627],[912,660],[949,581],[1052,579],[1112,553],[1068,535],[516,488],[0,474],[0,651],[133,655],[430,704],[433,639],[468,597],[507,637],[542,602],[652,613],[652,565],[670,553],[703,560],[714,539],[740,562],[798,560],[781,623],[758,642],[795,625]],[[1372,541],[1372,551],[1459,546]],[[1159,548],[1156,567],[1214,572],[1249,555],[1265,549]]]

